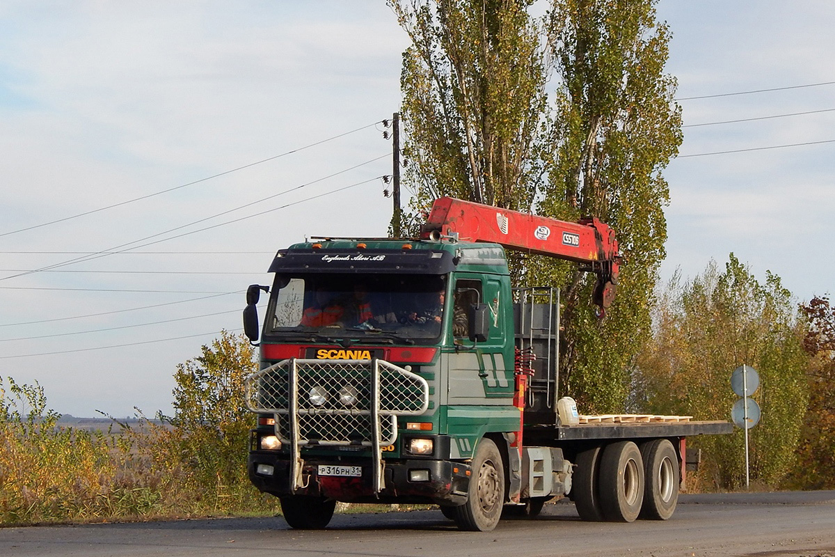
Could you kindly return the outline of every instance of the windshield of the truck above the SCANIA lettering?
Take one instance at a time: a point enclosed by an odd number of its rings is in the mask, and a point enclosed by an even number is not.
[[[276,276],[279,286],[266,316],[273,334],[362,342],[428,341],[441,334],[443,276],[284,275]]]

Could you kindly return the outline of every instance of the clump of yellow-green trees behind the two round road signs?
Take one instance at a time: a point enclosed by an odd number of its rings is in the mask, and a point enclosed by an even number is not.
[[[728,419],[738,397],[730,377],[743,363],[757,369],[752,396],[762,418],[749,430],[751,480],[777,487],[794,463],[808,391],[807,356],[798,316],[779,277],[761,284],[733,254],[724,272],[711,264],[701,276],[671,285],[660,296],[655,342],[641,354],[633,388],[635,406],[700,420]],[[692,438],[706,449],[707,480],[716,489],[745,482],[744,431]]]

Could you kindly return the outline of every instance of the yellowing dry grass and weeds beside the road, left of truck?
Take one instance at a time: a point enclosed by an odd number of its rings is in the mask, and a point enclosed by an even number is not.
[[[246,478],[245,432],[57,422],[37,383],[0,379],[0,524],[277,512]]]

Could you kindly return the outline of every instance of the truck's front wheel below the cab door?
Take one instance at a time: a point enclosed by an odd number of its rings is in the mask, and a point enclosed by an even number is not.
[[[488,532],[498,524],[504,507],[504,464],[496,444],[482,438],[471,466],[467,502],[454,507],[455,524],[462,530]]]

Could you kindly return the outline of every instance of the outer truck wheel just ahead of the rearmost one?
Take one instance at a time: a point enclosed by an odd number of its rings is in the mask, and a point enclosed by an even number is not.
[[[644,461],[631,441],[606,445],[600,456],[600,507],[610,522],[632,522],[644,501]]]

